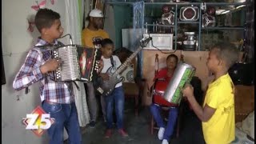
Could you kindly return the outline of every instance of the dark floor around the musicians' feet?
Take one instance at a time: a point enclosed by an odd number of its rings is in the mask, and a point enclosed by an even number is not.
[[[154,134],[150,134],[149,107],[142,107],[140,114],[136,117],[133,106],[132,100],[126,100],[124,125],[129,134],[128,138],[122,138],[117,130],[111,138],[104,138],[106,126],[102,119],[99,119],[94,128],[89,126],[83,128],[82,142],[84,144],[161,144],[157,137],[157,130],[154,130]],[[186,112],[183,120],[179,137],[171,138],[170,144],[203,144],[202,126],[198,118]]]

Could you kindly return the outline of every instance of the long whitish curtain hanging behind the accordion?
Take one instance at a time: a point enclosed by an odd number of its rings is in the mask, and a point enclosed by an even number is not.
[[[81,45],[82,21],[84,11],[83,0],[65,0],[66,3],[66,33],[71,34],[73,44]],[[73,84],[75,104],[78,110],[80,126],[86,126],[90,122],[90,114],[86,102],[86,91],[83,82],[76,82],[80,90]]]

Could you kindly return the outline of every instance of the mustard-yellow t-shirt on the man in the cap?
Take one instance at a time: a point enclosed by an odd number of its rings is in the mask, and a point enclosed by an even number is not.
[[[98,38],[100,40],[109,38],[109,34],[105,30],[89,30],[88,28],[82,30],[82,46],[94,48],[94,40]]]

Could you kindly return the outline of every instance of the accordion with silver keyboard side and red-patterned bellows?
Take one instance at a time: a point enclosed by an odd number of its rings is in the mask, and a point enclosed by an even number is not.
[[[54,80],[92,82],[97,78],[101,51],[78,45],[68,45],[52,50],[53,58],[60,58],[62,66],[54,70]]]

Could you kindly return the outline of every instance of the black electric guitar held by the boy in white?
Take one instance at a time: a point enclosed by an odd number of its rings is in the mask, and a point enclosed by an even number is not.
[[[114,87],[118,82],[122,82],[123,77],[118,78],[118,74],[120,74],[123,70],[125,70],[126,66],[128,65],[129,62],[138,54],[139,51],[143,49],[147,45],[148,42],[150,42],[151,38],[147,38],[146,40],[141,42],[141,46],[134,52],[134,54],[131,54],[129,58],[126,59],[125,62],[122,63],[121,66],[118,67],[118,70],[113,72],[113,68],[110,67],[107,71],[106,74],[110,76],[110,78],[106,81],[101,81],[99,82],[99,85],[95,87],[95,89],[102,95],[102,96],[107,96],[109,94],[112,94]]]

